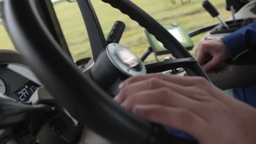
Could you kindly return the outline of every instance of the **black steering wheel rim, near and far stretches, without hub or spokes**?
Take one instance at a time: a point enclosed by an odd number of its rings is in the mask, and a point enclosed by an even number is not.
[[[116,0],[103,1],[118,8],[118,5],[114,3]],[[126,8],[135,8],[136,12],[142,13],[141,16],[146,16],[152,21],[153,18],[129,0],[117,0],[117,2],[126,5]],[[90,77],[81,75],[73,61],[61,51],[60,45],[54,40],[40,18],[37,11],[37,0],[6,0],[4,10],[15,47],[27,60],[29,67],[53,93],[53,96],[56,96],[57,101],[72,116],[114,143],[144,144],[153,142],[151,140],[154,139],[154,135],[148,122],[135,117],[116,104]],[[122,12],[126,13],[126,11]],[[130,15],[130,13],[128,14]],[[134,19],[132,15],[134,13],[130,16]],[[139,22],[139,24],[141,23]],[[154,24],[158,23],[153,19],[150,27]],[[157,27],[160,27],[164,34],[173,40],[174,37],[169,32],[167,34],[166,29],[161,28],[160,24]],[[152,32],[153,35],[154,33]],[[174,38],[174,40],[176,39]],[[162,40],[160,41],[162,42]],[[177,42],[176,40],[175,43]],[[166,45],[165,42],[162,43]],[[184,57],[191,56],[185,48],[178,51],[182,51]],[[176,56],[181,58],[183,54]],[[191,69],[191,75],[195,74],[208,79],[199,64],[194,64]],[[73,83],[77,83],[77,85],[73,85]],[[67,85],[70,86],[67,87]]]

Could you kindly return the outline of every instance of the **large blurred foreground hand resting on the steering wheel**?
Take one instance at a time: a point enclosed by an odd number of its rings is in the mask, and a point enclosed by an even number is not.
[[[131,77],[115,101],[135,115],[184,131],[201,144],[255,144],[256,109],[201,77]]]

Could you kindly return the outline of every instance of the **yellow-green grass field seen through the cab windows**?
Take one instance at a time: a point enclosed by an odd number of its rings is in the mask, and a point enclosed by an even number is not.
[[[100,0],[91,1],[98,15],[105,37],[107,37],[114,22],[120,20],[126,24],[126,29],[120,44],[130,48],[138,56],[147,49],[149,43],[144,34],[144,28],[141,28],[135,21],[132,21],[128,16],[120,13],[120,11],[112,8],[110,5]],[[191,0],[191,3],[171,10],[167,9],[168,5],[164,3],[164,0],[131,1],[143,8],[161,24],[178,22],[185,27],[188,32],[204,25],[218,22],[217,19],[213,19],[205,12],[202,7],[203,0]],[[225,10],[225,0],[211,0],[211,2],[218,8],[223,19],[227,19],[231,15],[229,11]],[[91,56],[88,35],[77,3],[63,1],[56,3],[54,8],[73,59],[79,60]],[[192,38],[195,45],[197,45],[203,35],[204,34]],[[0,48],[14,49],[2,25],[0,25]],[[194,50],[190,51],[193,55],[195,54]],[[163,57],[165,56],[159,56],[159,59],[163,59]],[[151,54],[145,62],[151,63],[154,61],[155,56]]]

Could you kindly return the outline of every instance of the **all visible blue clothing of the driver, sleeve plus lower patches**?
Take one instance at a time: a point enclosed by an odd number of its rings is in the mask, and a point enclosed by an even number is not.
[[[235,58],[244,51],[256,52],[256,48],[254,48],[256,47],[256,23],[249,24],[232,34],[222,37],[221,41],[228,49],[232,58]],[[250,88],[234,88],[233,96],[235,99],[256,107],[256,86]],[[173,128],[166,128],[166,130],[175,136],[194,140],[192,136]]]

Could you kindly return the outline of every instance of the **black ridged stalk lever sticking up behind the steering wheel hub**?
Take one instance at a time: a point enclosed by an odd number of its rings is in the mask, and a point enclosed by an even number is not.
[[[109,32],[109,35],[107,36],[107,44],[119,43],[124,31],[125,23],[123,23],[122,21],[116,21],[111,31]]]

